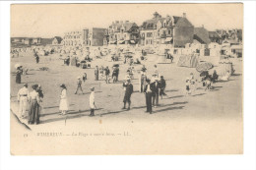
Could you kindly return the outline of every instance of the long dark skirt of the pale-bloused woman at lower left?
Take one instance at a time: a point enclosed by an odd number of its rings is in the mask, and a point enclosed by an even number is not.
[[[29,123],[39,123],[39,105],[36,100],[31,100],[30,103]]]

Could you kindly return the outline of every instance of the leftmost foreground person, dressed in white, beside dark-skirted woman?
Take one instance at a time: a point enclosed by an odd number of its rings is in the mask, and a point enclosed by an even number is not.
[[[24,84],[24,86],[18,92],[18,102],[20,102],[20,106],[19,106],[20,118],[23,118],[23,119],[25,118],[28,101],[29,101],[28,84]]]

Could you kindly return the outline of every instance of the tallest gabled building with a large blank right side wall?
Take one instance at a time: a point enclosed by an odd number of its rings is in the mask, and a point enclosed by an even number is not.
[[[183,17],[166,16],[162,18],[159,13],[147,20],[140,28],[141,45],[172,44],[174,47],[183,47],[193,42],[194,27]]]

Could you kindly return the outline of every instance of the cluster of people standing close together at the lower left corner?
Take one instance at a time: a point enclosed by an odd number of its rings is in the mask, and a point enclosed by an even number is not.
[[[42,109],[43,92],[40,85],[32,85],[32,91],[28,89],[28,84],[18,91],[18,102],[20,118],[26,119],[26,111],[29,105],[29,124],[39,124],[39,115]]]

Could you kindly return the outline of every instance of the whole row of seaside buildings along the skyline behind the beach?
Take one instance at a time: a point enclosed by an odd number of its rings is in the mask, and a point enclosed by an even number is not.
[[[15,38],[14,41],[17,39]],[[25,38],[26,44],[43,44],[43,38]],[[108,28],[84,28],[66,32],[63,38],[51,38],[51,44],[64,46],[107,46],[138,44],[140,46],[158,46],[169,44],[173,47],[185,47],[187,43],[209,44],[224,40],[241,42],[242,29],[217,29],[209,31],[204,26],[195,28],[186,14],[161,17],[156,12],[153,18],[143,22],[142,26],[129,21],[115,21]]]

